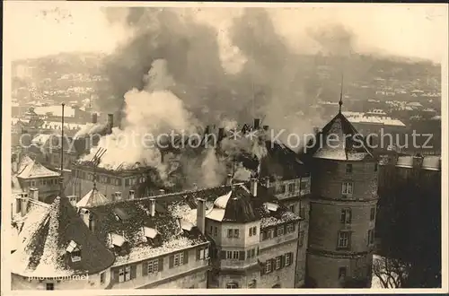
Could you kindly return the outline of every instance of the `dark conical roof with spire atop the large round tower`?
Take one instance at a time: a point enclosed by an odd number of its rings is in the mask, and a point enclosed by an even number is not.
[[[314,140],[314,143],[313,143]],[[373,153],[348,119],[338,113],[304,148],[305,155],[334,161],[365,161]]]

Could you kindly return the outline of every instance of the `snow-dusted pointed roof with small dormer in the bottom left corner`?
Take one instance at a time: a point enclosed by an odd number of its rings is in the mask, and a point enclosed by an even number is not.
[[[14,274],[96,274],[114,263],[113,254],[89,231],[66,197],[58,196],[47,209],[28,215],[31,221],[19,233],[22,243],[12,255]],[[23,231],[26,232],[22,234]],[[81,260],[77,262],[72,262],[66,251],[72,241],[81,250]]]

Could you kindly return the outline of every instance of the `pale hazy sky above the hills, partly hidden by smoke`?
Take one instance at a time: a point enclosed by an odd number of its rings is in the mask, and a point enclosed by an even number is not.
[[[434,62],[441,62],[447,54],[447,5],[313,5],[317,4],[269,8],[277,31],[293,48],[316,51],[307,30],[322,24],[339,24],[357,36],[354,47],[359,52],[420,57]],[[241,11],[239,8],[200,9],[197,17],[199,22],[207,22],[220,32]],[[128,37],[128,30],[106,20],[100,4],[4,3],[4,46],[12,59],[70,51],[108,54]]]

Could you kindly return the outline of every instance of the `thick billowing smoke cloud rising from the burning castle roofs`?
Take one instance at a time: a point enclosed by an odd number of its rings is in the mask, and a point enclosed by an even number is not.
[[[206,125],[230,130],[252,118],[263,118],[263,125],[275,131],[285,129],[280,138],[286,142],[289,134],[313,133],[313,127],[326,120],[312,109],[322,89],[311,71],[314,65],[287,45],[264,9],[245,9],[232,20],[225,32],[227,48],[216,28],[198,22],[191,9],[108,8],[105,14],[111,23],[128,28],[131,37],[105,61],[109,84],[103,98],[110,100],[101,100],[101,109],[119,110],[121,128],[103,142],[117,144],[120,135],[131,132],[193,132]],[[352,42],[351,33],[345,32],[310,34],[328,52],[339,53]],[[334,35],[344,36],[338,47],[329,37]],[[229,71],[224,52],[231,56],[228,60],[240,63],[237,71]],[[186,149],[165,159],[157,148],[138,147],[120,162],[153,166],[166,184],[211,187],[223,183],[230,170],[238,178],[249,178],[250,171],[230,160],[240,152],[262,158],[268,137],[225,139],[221,154],[211,148]],[[114,167],[117,161],[105,159],[103,165]]]

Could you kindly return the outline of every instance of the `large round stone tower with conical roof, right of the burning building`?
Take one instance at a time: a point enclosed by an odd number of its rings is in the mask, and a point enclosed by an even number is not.
[[[304,151],[312,174],[307,285],[370,287],[377,161],[339,112]]]

